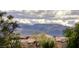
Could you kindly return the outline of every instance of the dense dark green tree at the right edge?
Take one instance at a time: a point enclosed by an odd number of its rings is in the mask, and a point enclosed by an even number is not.
[[[68,38],[69,48],[79,48],[79,23],[72,28],[64,30],[64,36]]]

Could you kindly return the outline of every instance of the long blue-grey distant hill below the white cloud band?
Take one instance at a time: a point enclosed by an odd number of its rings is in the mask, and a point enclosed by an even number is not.
[[[21,35],[47,33],[52,36],[63,36],[63,30],[65,28],[67,27],[58,24],[34,24],[34,25],[20,24],[20,28],[18,28],[18,30],[21,32]]]

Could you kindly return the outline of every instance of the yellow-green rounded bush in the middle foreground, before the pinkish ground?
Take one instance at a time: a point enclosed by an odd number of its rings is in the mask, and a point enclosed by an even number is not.
[[[49,38],[44,34],[39,37],[39,45],[42,48],[53,48],[54,47],[54,40],[53,38]]]

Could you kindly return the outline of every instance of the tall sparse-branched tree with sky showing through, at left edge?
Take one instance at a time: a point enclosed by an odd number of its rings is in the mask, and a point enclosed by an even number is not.
[[[1,48],[19,48],[21,43],[19,34],[16,33],[18,24],[13,21],[13,16],[9,15],[6,18],[3,16],[6,12],[0,12],[0,47]]]

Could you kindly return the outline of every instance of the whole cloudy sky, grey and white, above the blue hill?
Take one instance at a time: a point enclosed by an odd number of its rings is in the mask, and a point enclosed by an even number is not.
[[[14,20],[24,24],[56,23],[73,26],[79,22],[79,10],[8,10],[6,12],[7,15],[14,16]]]

